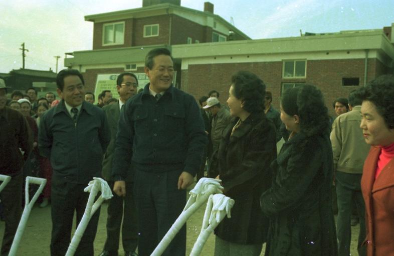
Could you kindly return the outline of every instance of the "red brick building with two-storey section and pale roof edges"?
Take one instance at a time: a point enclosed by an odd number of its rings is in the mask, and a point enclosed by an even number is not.
[[[84,74],[88,90],[99,74],[143,73],[144,56],[159,46],[172,50],[177,87],[196,98],[216,89],[222,103],[238,70],[257,73],[272,91],[275,107],[287,87],[315,84],[330,106],[334,98],[393,73],[394,23],[373,30],[251,40],[214,14],[212,3],[199,11],[180,6],[180,0],[143,0],[142,8],[85,20],[94,22],[93,49],[67,53],[72,57],[65,66]]]

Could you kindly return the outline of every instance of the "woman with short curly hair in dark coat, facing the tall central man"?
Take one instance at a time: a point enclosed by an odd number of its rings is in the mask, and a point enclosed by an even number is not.
[[[235,200],[231,218],[217,227],[215,255],[260,255],[268,218],[260,195],[271,183],[269,164],[276,157],[275,126],[264,114],[265,84],[255,74],[232,77],[227,103],[235,120],[224,130],[219,146],[219,178],[224,193]]]

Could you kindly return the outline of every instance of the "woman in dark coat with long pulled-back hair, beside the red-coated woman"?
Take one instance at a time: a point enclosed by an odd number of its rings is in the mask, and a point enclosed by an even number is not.
[[[270,218],[265,255],[337,255],[329,117],[321,92],[313,85],[286,90],[281,119],[291,133],[271,164],[272,187],[261,196]]]

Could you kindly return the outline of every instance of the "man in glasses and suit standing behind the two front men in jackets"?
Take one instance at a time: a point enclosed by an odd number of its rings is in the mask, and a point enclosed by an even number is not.
[[[116,104],[109,104],[103,107],[111,129],[111,141],[104,154],[103,177],[108,181],[110,187],[113,187],[114,184],[112,177],[112,160],[115,149],[115,137],[118,132],[120,111],[126,101],[137,93],[137,76],[130,72],[121,73],[116,80],[116,84],[116,89],[119,93],[119,101]],[[137,210],[135,208],[132,192],[133,175],[131,166],[127,170],[125,181],[127,192],[125,191],[122,196],[114,194],[114,196],[108,200],[107,239],[105,240],[104,249],[100,256],[118,255],[120,229],[122,229],[124,255],[137,255],[134,252],[138,242]]]

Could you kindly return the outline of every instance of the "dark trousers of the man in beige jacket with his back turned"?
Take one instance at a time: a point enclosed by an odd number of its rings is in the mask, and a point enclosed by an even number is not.
[[[350,174],[341,171],[336,172],[336,194],[338,197],[338,256],[350,254],[351,227],[350,216],[352,212],[352,200],[355,200],[360,219],[360,232],[358,234],[358,255],[366,254],[365,247],[361,246],[365,234],[365,204],[360,189],[361,174]]]

